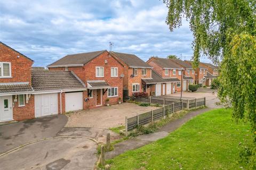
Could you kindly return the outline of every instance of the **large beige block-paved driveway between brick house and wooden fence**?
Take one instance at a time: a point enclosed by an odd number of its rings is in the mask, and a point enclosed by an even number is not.
[[[73,112],[67,114],[66,127],[114,128],[125,124],[125,116],[132,117],[156,108],[158,107],[142,107],[133,103],[123,103],[93,108],[90,111]]]

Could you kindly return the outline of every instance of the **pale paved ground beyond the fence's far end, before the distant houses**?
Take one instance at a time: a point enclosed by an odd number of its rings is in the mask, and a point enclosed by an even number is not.
[[[189,100],[195,98],[203,98],[206,99],[206,106],[210,108],[221,108],[222,106],[216,105],[220,100],[218,99],[217,90],[212,90],[209,88],[199,88],[195,92],[182,91],[182,99]],[[180,92],[175,94],[166,95],[164,97],[170,98],[180,98]]]

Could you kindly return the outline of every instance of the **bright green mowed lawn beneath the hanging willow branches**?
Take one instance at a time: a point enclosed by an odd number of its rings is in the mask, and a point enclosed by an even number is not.
[[[230,109],[199,115],[168,137],[107,161],[111,169],[246,169],[237,164],[250,126],[232,121]],[[242,166],[242,167],[241,167]]]

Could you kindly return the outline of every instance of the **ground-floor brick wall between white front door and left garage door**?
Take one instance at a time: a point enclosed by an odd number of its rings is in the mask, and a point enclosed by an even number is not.
[[[35,118],[35,96],[31,95],[28,103],[26,103],[26,95],[25,96],[25,106],[19,107],[19,98],[17,96],[17,102],[14,103],[13,108],[13,120],[22,121],[31,118]],[[14,101],[15,95],[12,96],[12,101]]]

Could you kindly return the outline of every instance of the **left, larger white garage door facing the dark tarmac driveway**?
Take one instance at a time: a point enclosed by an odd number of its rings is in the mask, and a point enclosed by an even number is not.
[[[35,95],[35,117],[58,114],[58,94]]]

